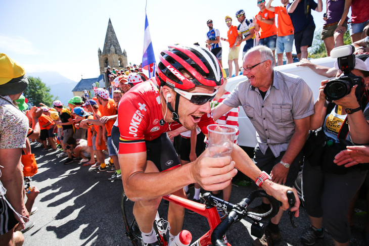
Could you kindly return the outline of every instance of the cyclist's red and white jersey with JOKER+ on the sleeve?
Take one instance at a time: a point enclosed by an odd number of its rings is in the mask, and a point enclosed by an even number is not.
[[[155,78],[135,85],[124,94],[118,107],[120,132],[119,154],[146,152],[145,141],[151,141],[162,133],[182,125],[164,121],[159,86]],[[215,124],[210,114],[201,117],[198,126],[207,134],[206,126]]]

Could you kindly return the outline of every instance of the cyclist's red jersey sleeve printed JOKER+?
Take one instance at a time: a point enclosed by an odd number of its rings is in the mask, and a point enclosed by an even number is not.
[[[126,107],[118,109],[119,154],[146,152],[144,130],[150,117],[148,104],[135,93],[123,96],[122,100],[121,105]]]

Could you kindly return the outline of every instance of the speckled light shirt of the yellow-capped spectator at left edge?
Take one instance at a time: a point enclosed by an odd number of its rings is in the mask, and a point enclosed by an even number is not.
[[[0,96],[0,149],[26,147],[28,118],[17,109],[8,95]]]

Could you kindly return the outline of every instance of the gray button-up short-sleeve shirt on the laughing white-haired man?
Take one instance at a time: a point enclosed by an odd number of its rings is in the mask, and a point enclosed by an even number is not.
[[[239,83],[223,103],[242,106],[256,129],[260,150],[265,154],[269,146],[275,157],[287,150],[295,132],[294,120],[314,114],[310,87],[302,78],[280,71],[273,71],[273,84],[264,100],[258,88],[247,80]]]

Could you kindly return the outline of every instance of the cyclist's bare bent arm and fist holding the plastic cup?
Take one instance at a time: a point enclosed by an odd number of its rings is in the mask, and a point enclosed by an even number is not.
[[[220,190],[237,174],[230,157],[209,158],[205,152],[187,165],[158,172],[147,163],[146,152],[119,154],[124,191],[131,201],[151,200],[174,192],[190,183],[199,183],[206,190]]]

